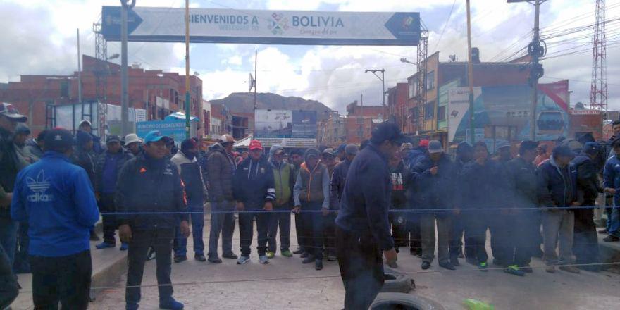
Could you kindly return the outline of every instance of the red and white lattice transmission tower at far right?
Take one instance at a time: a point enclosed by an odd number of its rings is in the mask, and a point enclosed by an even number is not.
[[[592,39],[592,85],[590,107],[607,111],[607,36],[605,35],[605,0],[596,0],[596,23]]]

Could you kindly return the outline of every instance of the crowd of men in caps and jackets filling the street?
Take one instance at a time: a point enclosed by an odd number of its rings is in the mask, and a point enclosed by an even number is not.
[[[533,272],[536,256],[549,273],[556,267],[597,271],[592,206],[602,192],[609,195],[607,206],[620,199],[620,121],[604,144],[567,140],[547,154],[547,144],[526,140],[513,158],[510,144],[490,154],[484,142],[461,142],[454,159],[438,140],[414,148],[389,123],[360,147],[272,145],[267,151],[252,140],[238,153],[230,135],[208,148],[191,138],[177,149],[158,131],[144,140],[109,135],[103,143],[87,120],[75,134],[54,128],[27,140],[25,121],[10,104],[0,106],[0,280],[7,283],[0,288],[0,309],[17,295],[15,273],[27,272],[35,307],[54,309],[61,302],[63,309],[86,309],[89,240],[99,239],[94,224],[100,214],[104,235],[96,249],[116,248],[118,230],[119,249],[128,251],[126,309],[138,309],[149,259],[156,259],[159,306],[183,309],[173,298],[171,263],[187,260],[189,235],[197,261],[222,263],[222,257],[243,265],[251,260],[254,223],[260,263],[275,256],[278,240],[280,255],[299,254],[316,270],[324,259],[337,260],[345,308],[359,309],[383,284],[381,251],[392,268],[399,249],[408,247],[422,269],[430,268],[436,252],[442,268],[454,270],[464,258],[487,271],[487,230],[494,265],[512,275]],[[618,211],[606,209],[605,241],[620,240]],[[237,221],[239,255],[233,250]],[[349,294],[360,290],[370,290],[364,300]]]

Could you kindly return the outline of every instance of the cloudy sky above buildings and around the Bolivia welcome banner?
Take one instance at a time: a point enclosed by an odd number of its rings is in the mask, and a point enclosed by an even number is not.
[[[472,41],[482,61],[502,61],[531,40],[533,6],[504,0],[472,0]],[[550,0],[540,10],[543,36],[553,36],[595,20],[595,0]],[[182,0],[137,0],[137,6],[181,7]],[[75,30],[80,28],[82,53],[94,56],[92,23],[101,6],[119,6],[114,0],[2,0],[0,3],[0,82],[18,81],[20,75],[71,74],[77,70]],[[193,0],[192,7],[420,12],[429,30],[428,54],[440,51],[440,60],[455,54],[466,60],[465,0]],[[620,109],[620,0],[607,1],[607,79],[609,109]],[[452,13],[451,13],[452,12]],[[449,18],[450,17],[450,18]],[[564,31],[566,30],[566,31]],[[590,101],[591,37],[586,30],[547,39],[549,59],[543,61],[541,82],[569,79],[572,103]],[[554,42],[554,43],[552,43]],[[256,44],[192,44],[191,72],[198,72],[204,98],[247,91],[248,73],[259,51],[258,91],[316,99],[344,113],[345,105],[364,94],[364,104],[380,104],[381,85],[366,68],[385,68],[386,88],[406,82],[415,66],[415,46],[284,46]],[[109,54],[120,43],[109,42]],[[564,55],[566,53],[573,53]],[[555,57],[553,57],[555,56]],[[173,43],[129,43],[129,63],[143,68],[185,72],[185,47]],[[115,60],[118,62],[118,59]]]

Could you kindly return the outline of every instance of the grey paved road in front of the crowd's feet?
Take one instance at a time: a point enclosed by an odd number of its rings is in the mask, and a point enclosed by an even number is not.
[[[235,260],[224,260],[219,265],[199,263],[193,256],[173,264],[173,283],[211,282],[175,285],[175,297],[185,303],[186,309],[342,309],[344,290],[337,263],[325,261],[325,268],[315,271],[314,264],[302,265],[298,256],[276,255],[271,263],[261,265],[255,249],[252,250],[252,262],[244,266],[237,266]],[[238,235],[235,235],[235,252],[239,253]],[[538,268],[520,278],[500,270],[482,273],[461,261],[457,271],[439,268],[436,261],[428,271],[422,271],[420,259],[406,252],[399,255],[399,270],[412,273],[417,285],[412,294],[434,299],[446,309],[465,309],[462,306],[465,298],[490,302],[498,310],[609,310],[617,309],[620,304],[620,275],[615,273],[574,275],[558,271],[550,274]],[[533,265],[542,266],[542,263],[535,260]],[[287,279],[268,280],[275,278]],[[118,285],[124,283],[123,277]],[[150,261],[143,284],[155,283],[155,263]],[[140,309],[158,309],[157,305],[156,287],[143,288]],[[122,309],[123,306],[124,290],[114,288],[104,290],[91,309]]]

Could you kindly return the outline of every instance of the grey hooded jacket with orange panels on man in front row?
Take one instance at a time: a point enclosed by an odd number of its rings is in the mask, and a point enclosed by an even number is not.
[[[321,156],[317,149],[308,149],[304,156],[306,162],[302,163],[295,181],[293,198],[295,206],[301,206],[302,202],[321,202],[323,209],[329,209],[330,204],[330,176],[327,167],[318,161],[316,166],[308,167],[307,160],[310,154],[316,159]]]

